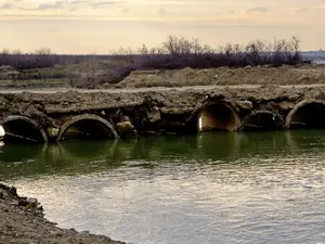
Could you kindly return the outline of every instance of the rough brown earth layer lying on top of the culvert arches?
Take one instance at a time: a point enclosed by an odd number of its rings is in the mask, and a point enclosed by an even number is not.
[[[325,81],[325,80],[324,80]],[[6,115],[29,117],[54,117],[67,114],[100,113],[157,106],[161,114],[191,113],[199,103],[209,99],[222,99],[234,104],[250,102],[257,108],[266,108],[270,103],[295,103],[306,100],[325,100],[325,86],[237,86],[237,87],[183,87],[152,89],[90,90],[82,92],[40,91],[39,93],[0,94],[0,118]],[[271,105],[272,105],[271,104]],[[275,104],[275,105],[276,105]]]

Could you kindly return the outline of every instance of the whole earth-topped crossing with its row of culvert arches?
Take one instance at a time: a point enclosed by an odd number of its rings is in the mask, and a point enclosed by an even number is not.
[[[4,141],[325,127],[325,86],[1,91]]]

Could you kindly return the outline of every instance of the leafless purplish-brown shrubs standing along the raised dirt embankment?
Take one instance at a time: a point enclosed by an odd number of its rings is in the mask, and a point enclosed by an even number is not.
[[[299,48],[300,40],[297,37],[290,40],[274,39],[273,42],[255,40],[245,46],[227,43],[213,49],[202,46],[198,39],[169,36],[161,47],[148,49],[143,46],[138,53],[142,55],[145,68],[278,66],[301,62]]]

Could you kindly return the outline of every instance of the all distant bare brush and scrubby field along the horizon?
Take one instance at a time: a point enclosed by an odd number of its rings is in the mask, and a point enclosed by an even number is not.
[[[2,50],[0,53],[0,82],[16,84],[64,80],[72,87],[95,87],[104,82],[117,84],[136,69],[177,69],[210,67],[244,67],[256,65],[295,65],[302,62],[300,41],[266,42],[255,40],[245,46],[225,44],[213,49],[200,44],[198,39],[169,36],[157,48],[143,44],[136,50],[120,49],[110,55],[63,55],[50,49],[22,53],[20,50]],[[60,82],[58,82],[60,84]]]

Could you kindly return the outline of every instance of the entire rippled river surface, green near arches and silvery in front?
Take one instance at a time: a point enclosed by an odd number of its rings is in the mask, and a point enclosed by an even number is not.
[[[0,179],[128,243],[325,243],[320,130],[3,145]]]

